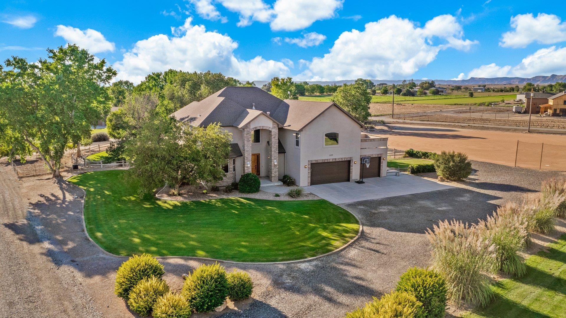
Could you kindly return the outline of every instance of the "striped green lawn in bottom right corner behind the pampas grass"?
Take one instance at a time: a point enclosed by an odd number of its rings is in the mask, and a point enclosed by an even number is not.
[[[527,274],[497,282],[496,299],[464,317],[566,317],[566,235],[526,260]]]

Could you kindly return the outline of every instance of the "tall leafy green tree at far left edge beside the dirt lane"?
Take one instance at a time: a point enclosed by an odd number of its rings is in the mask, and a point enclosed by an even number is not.
[[[9,141],[11,158],[20,160],[33,149],[60,177],[67,144],[79,146],[109,113],[112,98],[102,85],[116,72],[76,45],[47,51],[37,63],[7,59],[10,70],[0,70],[0,129],[10,135],[0,142]]]

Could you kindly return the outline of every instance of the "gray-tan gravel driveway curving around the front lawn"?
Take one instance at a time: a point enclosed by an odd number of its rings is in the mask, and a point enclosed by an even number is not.
[[[5,195],[1,198],[11,201],[12,194],[6,189],[18,184],[14,178],[7,180],[10,172],[1,167],[0,179],[4,178]],[[524,192],[538,190],[543,179],[555,175],[550,171],[536,171],[483,162],[474,162],[478,171],[463,184],[451,183],[455,188],[389,197],[384,199],[358,201],[343,204],[361,220],[363,233],[351,246],[332,255],[295,264],[241,264],[224,263],[228,270],[239,268],[251,274],[255,283],[252,299],[230,304],[222,313],[194,315],[195,317],[342,317],[348,311],[391,290],[398,276],[412,266],[427,265],[429,253],[424,231],[435,221],[444,218],[474,222],[486,216],[496,205],[509,199],[516,199]],[[1,186],[2,184],[0,184]],[[17,186],[16,186],[17,187]],[[92,300],[92,315],[100,312],[104,317],[131,317],[122,300],[113,294],[115,270],[123,259],[105,255],[91,243],[82,228],[82,191],[68,186],[65,182],[52,180],[24,179],[22,193],[29,198],[31,208],[28,219],[38,228],[44,237],[44,244],[37,244],[33,235],[20,235],[29,231],[29,224],[20,224],[18,218],[6,218],[5,209],[1,209],[3,226],[12,243],[20,247],[13,251],[16,260],[8,261],[0,255],[0,268],[15,267],[19,264],[24,269],[24,276],[36,272],[35,259],[44,260],[41,268],[50,266],[72,271],[80,290],[88,291],[88,296],[75,299],[78,291],[57,287],[53,299],[62,299],[71,310],[76,306],[88,308],[88,299]],[[78,198],[74,198],[78,196]],[[6,231],[2,229],[2,231]],[[33,233],[32,233],[33,234]],[[2,242],[5,240],[2,238]],[[37,249],[49,244],[48,253]],[[8,244],[9,245],[9,244]],[[2,250],[6,247],[0,246]],[[24,260],[24,261],[22,261]],[[172,289],[182,286],[181,274],[197,267],[201,261],[181,258],[162,259],[165,265],[165,279]],[[39,263],[42,264],[42,263]],[[13,276],[19,273],[2,273]],[[38,273],[37,273],[38,274]],[[45,273],[43,286],[53,286],[60,281],[58,276]],[[72,280],[71,280],[72,281]],[[18,293],[2,288],[2,301],[8,308],[7,316],[21,316],[17,309],[7,304],[25,302],[29,310],[45,311],[45,317],[62,315],[50,314],[64,306],[59,302],[37,302],[33,290],[38,285],[35,280],[18,280],[20,287],[28,293],[21,297]],[[65,285],[65,284],[63,284]],[[68,285],[65,285],[68,286]],[[2,286],[3,287],[3,286]],[[75,286],[76,287],[76,286]],[[29,290],[31,289],[31,290]],[[33,297],[32,297],[33,296]],[[32,300],[33,299],[33,300]],[[75,304],[78,304],[75,306]],[[236,308],[237,307],[237,308]],[[14,308],[14,309],[12,309]],[[47,308],[44,310],[44,308]],[[0,314],[0,315],[3,315]],[[30,315],[34,316],[34,315]],[[84,312],[64,316],[86,316]]]

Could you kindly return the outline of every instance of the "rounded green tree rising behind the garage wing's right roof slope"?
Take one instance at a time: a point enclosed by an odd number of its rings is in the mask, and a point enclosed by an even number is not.
[[[371,96],[362,84],[344,84],[332,96],[331,101],[348,111],[358,121],[370,117]]]

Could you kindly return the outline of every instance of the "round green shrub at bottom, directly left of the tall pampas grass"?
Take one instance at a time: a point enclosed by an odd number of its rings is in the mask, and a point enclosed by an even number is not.
[[[396,290],[415,296],[427,317],[445,316],[448,289],[444,277],[435,270],[410,268],[401,275]]]

